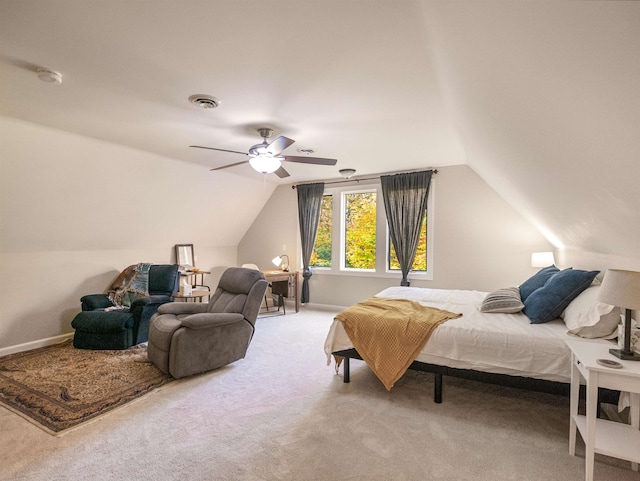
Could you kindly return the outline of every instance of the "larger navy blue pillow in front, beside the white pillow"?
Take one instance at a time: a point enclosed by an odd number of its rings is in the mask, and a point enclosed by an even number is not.
[[[523,312],[531,324],[556,319],[572,300],[591,285],[599,273],[600,271],[565,269],[554,274],[544,286],[527,297]]]

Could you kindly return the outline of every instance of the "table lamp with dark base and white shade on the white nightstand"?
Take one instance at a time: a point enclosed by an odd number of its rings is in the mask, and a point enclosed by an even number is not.
[[[631,311],[640,310],[640,272],[608,269],[598,300],[625,311],[623,348],[609,349],[609,352],[625,361],[640,361],[640,355],[631,349]]]

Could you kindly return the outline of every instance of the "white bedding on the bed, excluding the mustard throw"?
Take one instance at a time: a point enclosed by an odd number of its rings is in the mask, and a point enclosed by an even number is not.
[[[480,312],[487,295],[480,291],[389,287],[376,297],[410,299],[425,306],[462,313],[440,325],[416,358],[429,364],[566,382],[571,376],[571,354],[561,319],[531,324],[527,316]],[[331,353],[353,345],[340,321],[334,319],[324,350]]]

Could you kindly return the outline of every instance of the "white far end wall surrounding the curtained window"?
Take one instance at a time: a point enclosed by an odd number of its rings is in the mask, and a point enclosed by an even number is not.
[[[411,285],[488,291],[518,285],[532,275],[531,253],[553,250],[551,244],[468,166],[438,171],[430,214],[435,217],[434,277]],[[278,229],[269,228],[273,225]],[[283,243],[299,246],[297,197],[290,186],[274,192],[240,242],[238,260],[272,268],[269,260]],[[269,247],[268,254],[263,246]],[[300,269],[299,262],[295,265]],[[400,276],[341,276],[317,270],[310,282],[311,303],[347,306],[399,283]]]

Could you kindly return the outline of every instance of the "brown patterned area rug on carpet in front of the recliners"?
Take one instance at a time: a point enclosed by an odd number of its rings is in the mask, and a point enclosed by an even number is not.
[[[0,404],[62,434],[172,380],[149,362],[145,345],[91,351],[69,340],[0,357]]]

